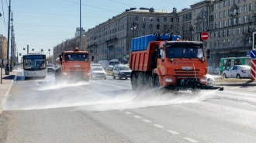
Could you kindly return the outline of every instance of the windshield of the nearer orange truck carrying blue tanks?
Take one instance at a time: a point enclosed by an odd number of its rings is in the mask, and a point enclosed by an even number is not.
[[[166,57],[168,58],[202,58],[204,56],[200,46],[168,46]]]

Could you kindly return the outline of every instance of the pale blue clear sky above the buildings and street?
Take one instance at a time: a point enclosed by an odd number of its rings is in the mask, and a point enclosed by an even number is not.
[[[74,37],[80,26],[79,0],[10,0],[16,49],[29,45],[29,53],[53,55],[54,46]],[[202,0],[201,0],[202,1]],[[154,8],[178,11],[190,8],[199,0],[81,0],[81,27],[87,31],[130,8]],[[9,0],[0,0],[0,34],[8,36]]]

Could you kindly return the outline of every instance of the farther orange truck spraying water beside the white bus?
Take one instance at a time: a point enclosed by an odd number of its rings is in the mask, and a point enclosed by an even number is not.
[[[79,51],[64,51],[59,56],[61,67],[55,72],[56,80],[85,80],[90,79],[90,60],[89,53]]]

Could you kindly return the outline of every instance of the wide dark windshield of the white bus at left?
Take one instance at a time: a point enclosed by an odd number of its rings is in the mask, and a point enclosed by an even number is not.
[[[24,70],[44,70],[46,68],[45,55],[27,55],[23,56]]]

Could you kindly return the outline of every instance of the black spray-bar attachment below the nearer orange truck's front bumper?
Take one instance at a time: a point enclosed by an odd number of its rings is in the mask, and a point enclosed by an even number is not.
[[[209,86],[192,78],[182,79],[180,85],[169,85],[168,88],[172,90],[224,90],[224,87]]]

